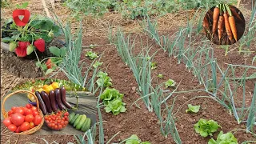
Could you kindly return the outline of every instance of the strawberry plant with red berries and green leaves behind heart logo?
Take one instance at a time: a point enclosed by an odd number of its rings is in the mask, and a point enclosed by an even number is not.
[[[26,6],[27,4],[23,4],[19,8],[25,9]],[[10,51],[15,52],[18,57],[26,57],[35,51],[44,52],[46,43],[50,43],[54,36],[62,34],[60,27],[55,25],[53,20],[41,15],[33,15],[26,26],[17,26],[13,18],[10,18],[1,30],[2,42],[9,43]]]

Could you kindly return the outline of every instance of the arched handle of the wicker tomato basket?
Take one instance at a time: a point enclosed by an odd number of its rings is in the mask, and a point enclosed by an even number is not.
[[[4,108],[6,99],[9,98],[10,96],[14,95],[14,94],[20,94],[20,93],[29,93],[29,94],[32,94],[33,97],[34,97],[34,99],[35,99],[36,102],[37,102],[37,108],[39,109],[38,98],[37,98],[37,96],[36,96],[34,93],[32,93],[32,92],[29,91],[29,90],[17,90],[17,91],[14,91],[14,92],[12,92],[12,93],[6,95],[6,97],[3,98],[3,100],[2,100],[2,114],[3,114],[4,118],[7,118],[7,117],[8,117],[8,114],[6,113],[6,110],[5,110],[5,108]]]

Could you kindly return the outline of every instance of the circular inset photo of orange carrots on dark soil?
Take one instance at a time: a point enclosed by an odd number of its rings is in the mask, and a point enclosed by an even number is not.
[[[203,19],[206,37],[216,45],[232,45],[242,38],[246,22],[235,6],[219,4],[212,7]]]

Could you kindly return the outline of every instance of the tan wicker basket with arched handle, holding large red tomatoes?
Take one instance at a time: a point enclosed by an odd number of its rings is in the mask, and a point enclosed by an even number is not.
[[[36,99],[36,102],[37,102],[38,113],[42,117],[42,122],[38,126],[35,126],[34,128],[32,128],[30,130],[26,130],[26,131],[23,131],[23,132],[20,132],[20,133],[15,133],[15,134],[33,134],[34,132],[36,132],[36,131],[41,129],[41,127],[43,125],[43,122],[45,121],[44,120],[44,116],[42,114],[42,111],[39,108],[38,98],[35,96],[34,93],[32,93],[32,92],[30,92],[28,90],[17,90],[17,91],[14,91],[13,93],[8,94],[2,100],[2,115],[3,115],[3,118],[8,118],[8,113],[6,112],[6,110],[4,108],[6,99],[9,98],[10,96],[14,95],[14,94],[20,94],[20,93],[29,93],[29,94],[32,94],[34,96],[34,98]]]

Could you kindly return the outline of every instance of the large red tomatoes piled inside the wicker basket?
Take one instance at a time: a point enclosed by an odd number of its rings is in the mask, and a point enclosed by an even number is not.
[[[35,106],[26,104],[24,107],[11,107],[8,111],[8,118],[3,120],[3,124],[15,133],[30,130],[42,122],[42,117]]]

